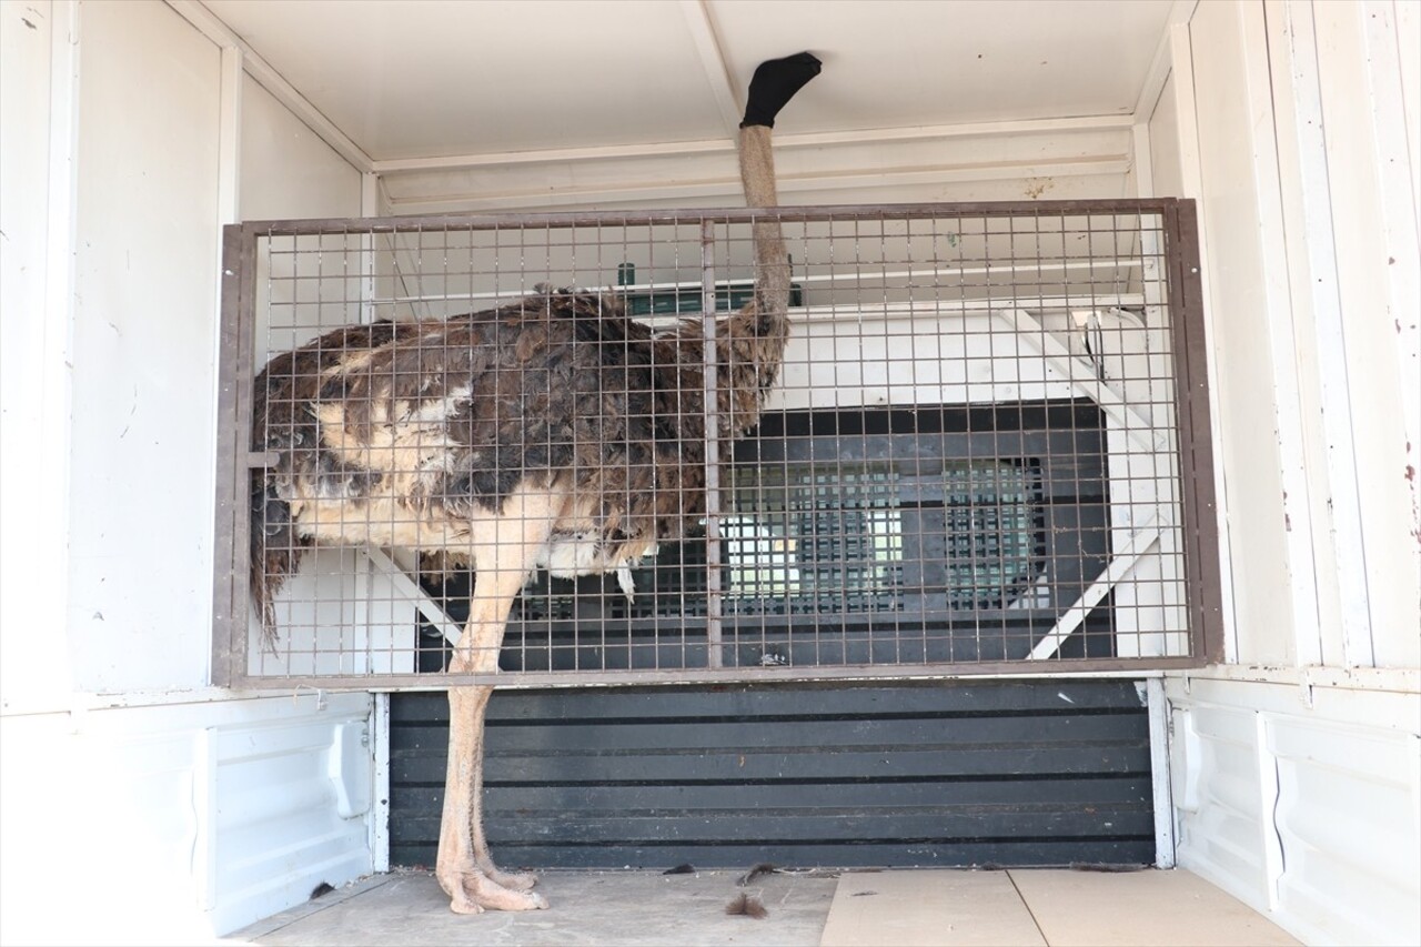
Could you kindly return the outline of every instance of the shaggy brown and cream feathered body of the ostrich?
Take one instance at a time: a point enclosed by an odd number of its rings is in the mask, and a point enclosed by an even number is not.
[[[458,536],[520,482],[566,479],[588,519],[576,528],[607,559],[684,537],[705,512],[702,333],[686,321],[658,336],[611,294],[563,290],[340,328],[273,358],[252,438],[277,455],[252,488],[252,589],[269,633],[271,597],[317,539],[399,545],[377,532],[389,519],[377,502]],[[720,438],[757,421],[786,338],[783,313],[756,303],[718,321]],[[411,441],[423,446],[399,446]]]

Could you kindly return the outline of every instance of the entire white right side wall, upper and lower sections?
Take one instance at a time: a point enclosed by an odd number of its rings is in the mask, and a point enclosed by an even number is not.
[[[1181,101],[1238,656],[1269,667],[1167,681],[1178,860],[1319,944],[1421,943],[1421,533],[1404,456],[1421,304],[1417,148],[1400,144],[1417,40],[1401,6],[1202,3]]]

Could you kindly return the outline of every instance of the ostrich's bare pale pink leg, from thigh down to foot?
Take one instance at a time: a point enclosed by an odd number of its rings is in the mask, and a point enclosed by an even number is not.
[[[469,624],[449,663],[455,674],[493,674],[509,609],[553,529],[553,498],[520,491],[503,512],[475,525]],[[449,688],[449,768],[435,876],[459,914],[547,907],[529,874],[499,872],[483,835],[483,722],[493,688]]]

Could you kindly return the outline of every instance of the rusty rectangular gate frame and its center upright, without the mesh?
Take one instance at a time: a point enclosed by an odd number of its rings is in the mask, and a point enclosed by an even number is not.
[[[1154,213],[1164,237],[1162,264],[1167,273],[1169,319],[1169,364],[1174,384],[1174,422],[1178,435],[1177,476],[1179,485],[1181,543],[1184,557],[1188,656],[1145,656],[1108,658],[1052,658],[1050,661],[956,661],[919,664],[838,664],[787,667],[716,667],[718,643],[708,634],[710,667],[632,668],[571,671],[500,671],[497,674],[378,673],[321,675],[261,675],[246,670],[250,624],[250,518],[247,478],[270,465],[271,456],[252,452],[252,382],[254,380],[256,279],[259,240],[277,236],[362,236],[419,233],[422,230],[493,230],[509,228],[573,229],[614,226],[702,225],[705,245],[702,291],[713,303],[713,259],[710,235],[716,225],[753,225],[773,218],[779,222],[823,220],[908,220],[915,218],[1010,218],[1052,215]],[[466,684],[499,687],[587,687],[630,684],[696,684],[728,681],[814,681],[814,680],[951,680],[963,677],[1052,677],[1052,675],[1148,675],[1168,670],[1198,668],[1221,663],[1223,650],[1222,570],[1219,525],[1216,522],[1214,445],[1209,415],[1208,340],[1199,257],[1198,213],[1192,199],[1111,198],[1080,200],[992,200],[955,203],[831,205],[806,208],[712,208],[703,210],[571,212],[571,213],[442,213],[387,218],[331,218],[250,220],[223,228],[223,294],[220,306],[220,357],[217,392],[217,491],[215,503],[215,576],[210,680],[217,687],[247,690],[291,690],[303,684],[324,690],[438,691]],[[713,365],[713,304],[703,306],[708,365]],[[715,384],[706,374],[708,392]],[[713,444],[715,398],[708,397],[708,441]],[[708,446],[710,446],[708,444]],[[709,496],[719,489],[718,465],[709,464],[708,519],[715,519]],[[715,479],[710,479],[715,478]],[[716,513],[718,515],[718,513]],[[708,543],[712,542],[708,529]],[[719,562],[719,557],[715,557]],[[712,599],[716,596],[712,594]]]

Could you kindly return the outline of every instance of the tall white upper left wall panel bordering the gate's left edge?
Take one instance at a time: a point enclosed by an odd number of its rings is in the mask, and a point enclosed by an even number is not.
[[[212,613],[220,55],[82,10],[68,627],[84,690],[200,687]]]

